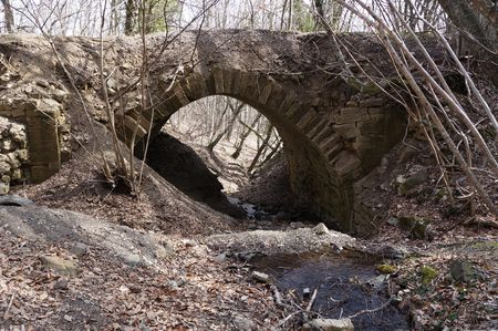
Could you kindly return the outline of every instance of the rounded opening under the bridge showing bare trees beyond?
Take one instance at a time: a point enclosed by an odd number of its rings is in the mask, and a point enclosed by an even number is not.
[[[147,164],[190,198],[236,218],[317,219],[291,189],[283,138],[263,113],[207,96],[173,113]]]

